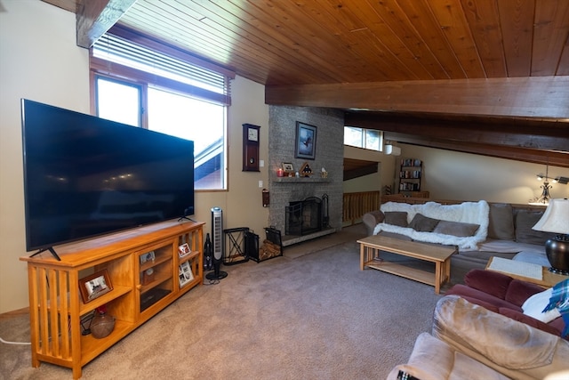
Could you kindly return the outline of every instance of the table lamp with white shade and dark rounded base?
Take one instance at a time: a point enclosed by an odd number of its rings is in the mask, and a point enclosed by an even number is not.
[[[557,234],[545,243],[551,264],[549,271],[569,275],[569,199],[550,199],[548,208],[532,229]]]

